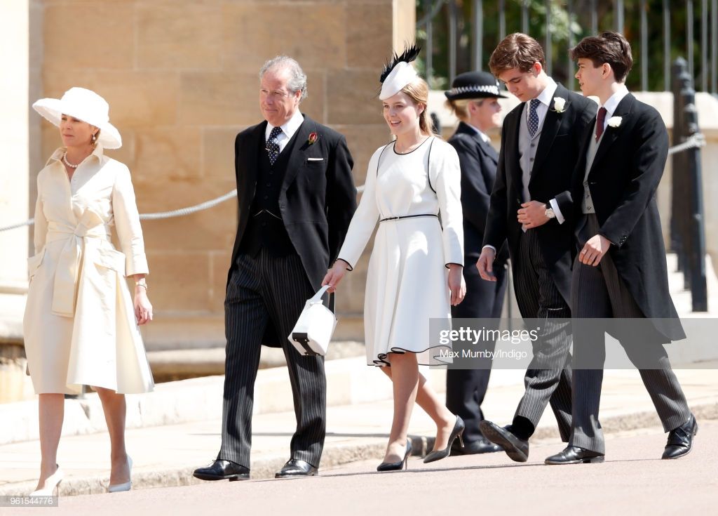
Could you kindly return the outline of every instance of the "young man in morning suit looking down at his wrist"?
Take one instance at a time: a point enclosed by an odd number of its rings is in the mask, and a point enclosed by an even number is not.
[[[508,239],[518,308],[523,318],[546,321],[526,370],[526,392],[513,421],[480,428],[514,461],[528,459],[528,438],[551,404],[559,433],[571,431],[569,295],[573,233],[556,204],[571,188],[582,135],[596,103],[554,82],[544,71],[544,51],[526,34],[510,34],[489,61],[491,73],[522,102],[505,117],[484,247],[476,264],[493,274],[496,249]]]

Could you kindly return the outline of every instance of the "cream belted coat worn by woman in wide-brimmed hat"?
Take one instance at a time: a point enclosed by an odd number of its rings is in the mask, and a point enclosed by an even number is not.
[[[154,382],[124,279],[148,272],[129,170],[98,146],[68,180],[64,152],[37,175],[23,321],[34,390],[147,392]],[[110,241],[112,225],[122,252]]]

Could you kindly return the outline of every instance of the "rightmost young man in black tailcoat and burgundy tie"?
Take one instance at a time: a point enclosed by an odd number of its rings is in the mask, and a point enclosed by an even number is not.
[[[668,293],[666,249],[656,188],[668,156],[668,133],[656,109],[628,93],[625,78],[633,59],[617,32],[586,37],[571,50],[584,95],[597,96],[592,120],[574,172],[571,195],[557,201],[574,221],[571,310],[577,359],[587,352],[595,364],[574,368],[573,429],[569,446],[546,464],[600,462],[605,443],[598,409],[605,359],[603,329],[591,331],[580,318],[623,318],[615,337],[638,367],[663,430],[669,432],[663,459],[691,451],[698,429],[663,344],[685,338]],[[633,326],[625,328],[630,323]],[[598,352],[597,352],[598,351]]]

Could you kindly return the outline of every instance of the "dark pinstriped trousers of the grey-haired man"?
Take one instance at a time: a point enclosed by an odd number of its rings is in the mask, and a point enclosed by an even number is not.
[[[262,336],[267,325],[273,324],[284,349],[297,416],[290,444],[292,459],[319,466],[327,420],[324,357],[302,356],[286,338],[312,295],[297,254],[274,257],[261,249],[256,257],[239,255],[225,299],[227,347],[222,447],[217,459],[249,467],[254,381]]]

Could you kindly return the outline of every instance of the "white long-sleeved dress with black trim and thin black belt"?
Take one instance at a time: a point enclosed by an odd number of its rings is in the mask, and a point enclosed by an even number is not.
[[[437,137],[406,154],[392,142],[371,157],[339,252],[354,267],[379,223],[364,299],[368,365],[387,365],[389,353],[406,351],[419,364],[451,362],[451,344],[437,337],[451,318],[447,265],[464,263],[460,190],[459,157]]]

